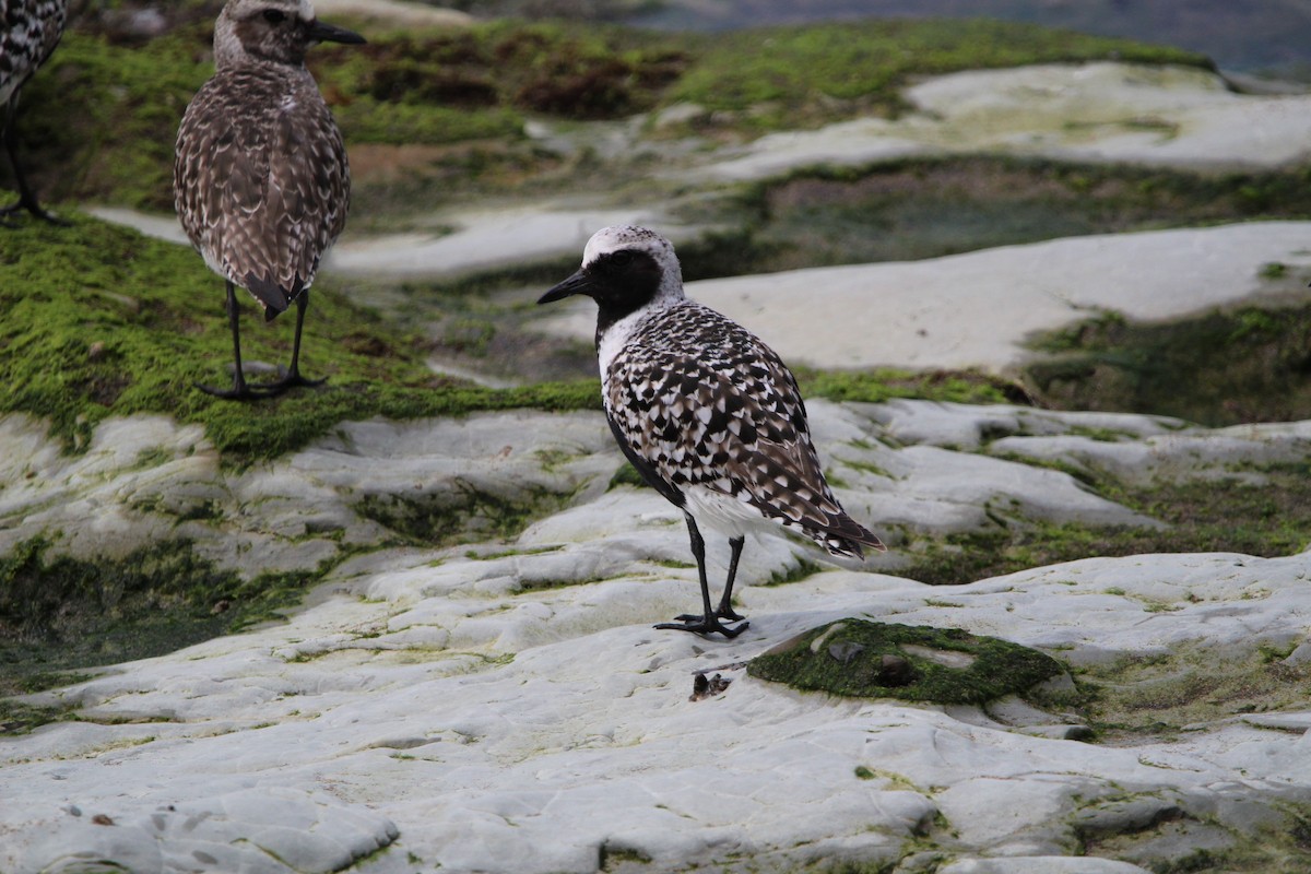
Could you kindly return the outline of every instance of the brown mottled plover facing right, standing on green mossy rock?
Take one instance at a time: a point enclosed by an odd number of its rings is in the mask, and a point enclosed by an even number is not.
[[[300,375],[300,329],[319,259],[346,224],[350,168],[341,131],[305,51],[319,42],[364,42],[315,17],[309,0],[228,0],[214,28],[216,72],[186,107],[177,132],[173,199],[205,263],[227,280],[235,367],[231,389],[210,394],[267,397]],[[250,292],[265,321],[296,304],[291,368],[248,385],[241,372],[240,308]]]

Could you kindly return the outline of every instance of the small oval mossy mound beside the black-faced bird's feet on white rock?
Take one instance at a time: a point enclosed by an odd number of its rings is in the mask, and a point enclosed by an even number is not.
[[[747,664],[751,676],[813,691],[927,704],[983,704],[1065,672],[1050,655],[956,628],[848,618]]]

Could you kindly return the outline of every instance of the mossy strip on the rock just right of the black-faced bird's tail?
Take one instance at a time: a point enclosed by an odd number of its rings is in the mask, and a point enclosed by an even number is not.
[[[1217,481],[1138,487],[1099,473],[1071,473],[1099,494],[1168,527],[1044,524],[994,508],[994,525],[987,531],[907,544],[916,557],[902,573],[924,583],[950,586],[1096,556],[1235,552],[1274,557],[1311,544],[1307,461],[1235,470],[1232,478]],[[1244,473],[1260,474],[1261,481],[1248,482],[1242,478]]]

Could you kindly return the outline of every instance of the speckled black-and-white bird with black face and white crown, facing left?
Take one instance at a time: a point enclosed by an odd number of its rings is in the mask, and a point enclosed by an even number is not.
[[[653,231],[598,231],[582,269],[539,304],[597,301],[597,359],[606,418],[619,448],[683,511],[701,580],[703,613],[671,628],[737,637],[733,580],[745,535],[792,529],[835,556],[882,550],[838,504],[810,442],[797,381],[751,332],[683,295],[674,246]],[[718,607],[705,579],[705,525],[729,536]]]

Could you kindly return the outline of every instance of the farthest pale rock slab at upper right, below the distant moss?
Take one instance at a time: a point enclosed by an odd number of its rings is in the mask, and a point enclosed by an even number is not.
[[[682,174],[760,180],[798,166],[1009,153],[1184,168],[1280,168],[1307,153],[1311,96],[1243,94],[1190,67],[1097,62],[965,71],[906,89],[915,111],[783,131]]]

